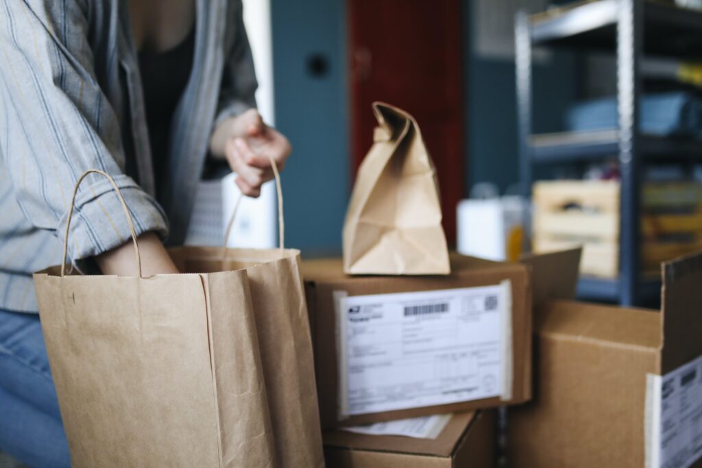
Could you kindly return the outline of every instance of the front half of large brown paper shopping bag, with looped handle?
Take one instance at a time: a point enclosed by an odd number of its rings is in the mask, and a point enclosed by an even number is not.
[[[137,276],[67,276],[73,203],[86,175],[110,179]],[[72,465],[275,466],[246,270],[141,274],[112,178],[78,180],[63,265],[34,275]]]

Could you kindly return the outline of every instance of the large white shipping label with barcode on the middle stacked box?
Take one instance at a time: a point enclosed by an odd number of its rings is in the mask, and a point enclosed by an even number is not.
[[[336,298],[340,417],[509,398],[509,281]]]

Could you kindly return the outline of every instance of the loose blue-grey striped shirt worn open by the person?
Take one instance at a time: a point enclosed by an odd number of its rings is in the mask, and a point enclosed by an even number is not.
[[[0,309],[37,311],[32,272],[60,263],[68,203],[86,169],[113,176],[137,234],[183,243],[211,131],[256,105],[241,0],[197,0],[168,174],[154,175],[127,8],[124,0],[0,0]],[[109,182],[88,176],[70,258],[129,236]]]

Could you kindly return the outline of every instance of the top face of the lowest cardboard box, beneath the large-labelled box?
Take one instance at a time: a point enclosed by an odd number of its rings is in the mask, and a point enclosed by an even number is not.
[[[371,436],[348,431],[324,432],[324,445],[357,450],[382,450],[414,453],[435,457],[449,457],[463,434],[477,420],[477,413],[456,413],[436,439],[416,439],[402,436]],[[470,424],[470,425],[469,425]]]

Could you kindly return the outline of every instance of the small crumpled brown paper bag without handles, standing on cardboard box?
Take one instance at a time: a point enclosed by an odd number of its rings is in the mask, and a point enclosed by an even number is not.
[[[378,127],[343,229],[350,274],[449,274],[436,171],[416,121],[373,103]]]

